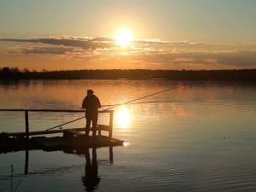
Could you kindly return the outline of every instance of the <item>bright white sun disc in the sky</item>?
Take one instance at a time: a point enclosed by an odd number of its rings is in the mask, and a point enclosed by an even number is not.
[[[118,44],[121,47],[125,47],[131,43],[133,34],[130,29],[121,28],[115,33],[113,38],[116,41],[116,44]]]

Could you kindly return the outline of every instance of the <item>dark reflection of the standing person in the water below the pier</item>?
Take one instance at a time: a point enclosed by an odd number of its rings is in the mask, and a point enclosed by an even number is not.
[[[96,148],[92,149],[92,160],[90,162],[89,148],[85,149],[85,177],[82,177],[84,187],[86,191],[94,191],[101,181],[101,177],[98,177],[98,164],[96,157]]]

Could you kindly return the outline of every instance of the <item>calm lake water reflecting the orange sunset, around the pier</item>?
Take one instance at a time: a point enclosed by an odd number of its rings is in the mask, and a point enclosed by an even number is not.
[[[256,86],[164,80],[60,80],[0,84],[0,108],[80,108],[91,88],[102,105],[166,93],[115,108],[113,137],[125,147],[97,148],[96,191],[256,191]],[[30,113],[31,130],[80,114]],[[23,131],[23,113],[0,113],[1,131]],[[105,123],[106,116],[100,117]],[[67,127],[83,127],[79,121]],[[90,150],[91,155],[91,150]],[[84,191],[84,155],[29,152],[0,154],[0,191]]]

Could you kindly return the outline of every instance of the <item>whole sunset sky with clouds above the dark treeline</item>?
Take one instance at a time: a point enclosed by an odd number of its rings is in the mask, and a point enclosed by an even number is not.
[[[0,0],[0,67],[256,68],[255,9],[255,0]]]

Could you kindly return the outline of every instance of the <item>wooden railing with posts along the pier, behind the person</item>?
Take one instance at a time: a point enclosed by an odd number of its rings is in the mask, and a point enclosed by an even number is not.
[[[30,131],[29,129],[29,112],[43,112],[43,113],[85,113],[84,109],[0,109],[0,112],[23,112],[25,114],[25,132],[13,132],[5,133],[9,137],[26,137],[34,135],[46,135],[53,133],[60,133],[68,130],[85,131],[84,128],[62,129],[62,130],[45,130],[45,131]],[[113,134],[113,110],[99,111],[99,113],[109,113],[109,125],[97,125],[97,131],[101,134],[101,131],[108,131],[108,137],[112,137]],[[90,129],[91,131],[92,129]]]

